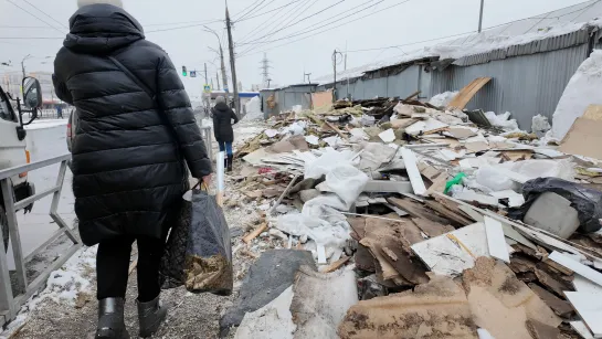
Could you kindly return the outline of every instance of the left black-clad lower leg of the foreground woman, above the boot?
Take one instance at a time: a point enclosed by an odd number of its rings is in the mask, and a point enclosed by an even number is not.
[[[98,280],[96,297],[98,300],[125,298],[133,243],[133,237],[122,236],[98,244],[98,252],[96,253]]]

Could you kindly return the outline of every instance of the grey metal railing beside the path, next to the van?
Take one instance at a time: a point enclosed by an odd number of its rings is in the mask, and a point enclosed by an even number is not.
[[[65,221],[56,212],[61,200],[61,191],[63,189],[67,161],[70,159],[71,155],[64,155],[56,158],[0,170],[0,186],[2,188],[2,197],[4,200],[4,210],[9,224],[18,283],[15,296],[12,290],[9,266],[7,263],[8,248],[0,248],[0,326],[13,320],[17,317],[21,306],[44,286],[50,274],[63,266],[63,264],[82,246],[80,239],[72,232]],[[12,177],[59,162],[61,166],[59,168],[59,177],[56,178],[56,184],[54,187],[19,202],[14,201],[14,192],[11,182]],[[23,248],[21,247],[21,237],[19,235],[19,225],[17,223],[17,211],[50,194],[53,194],[53,198],[49,214],[59,225],[59,230],[32,253],[24,256]],[[28,282],[25,263],[31,261],[36,254],[39,254],[63,234],[65,234],[73,242],[73,245],[71,245],[68,250],[64,251],[62,255],[49,267],[46,267],[46,269],[44,269],[35,279],[33,279],[31,283]],[[1,227],[0,235],[2,235]]]

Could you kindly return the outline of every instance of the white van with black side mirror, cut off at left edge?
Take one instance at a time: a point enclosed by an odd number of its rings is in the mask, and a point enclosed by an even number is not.
[[[27,130],[24,126],[31,124],[38,117],[38,108],[42,106],[42,91],[40,82],[33,77],[23,80],[24,100],[13,100],[2,87],[0,87],[0,170],[30,162],[29,151],[25,149]],[[11,102],[17,103],[17,112]],[[29,121],[23,123],[23,114],[31,113]],[[23,172],[10,178],[14,190],[14,200],[21,201],[35,194],[33,183],[28,182],[28,173]],[[27,206],[25,213],[31,212],[33,205]],[[0,190],[0,225],[4,250],[9,242],[9,225],[4,209],[4,199]]]

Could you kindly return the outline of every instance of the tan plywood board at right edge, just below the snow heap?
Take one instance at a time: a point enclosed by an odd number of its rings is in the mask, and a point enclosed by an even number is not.
[[[578,118],[562,139],[561,152],[602,160],[602,120]]]

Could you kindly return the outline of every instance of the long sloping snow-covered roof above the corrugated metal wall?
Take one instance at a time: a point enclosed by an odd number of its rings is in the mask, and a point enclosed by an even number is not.
[[[337,81],[360,77],[367,72],[426,57],[452,59],[455,60],[455,65],[467,66],[508,56],[564,49],[584,43],[592,31],[602,27],[599,18],[602,18],[602,1],[591,0],[337,72]],[[332,78],[332,74],[329,74],[316,78],[316,82],[320,85],[331,84]]]

